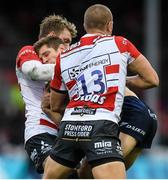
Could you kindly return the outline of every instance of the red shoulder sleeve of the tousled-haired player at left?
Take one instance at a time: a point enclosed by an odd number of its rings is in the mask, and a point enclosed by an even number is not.
[[[24,46],[17,55],[16,66],[17,68],[20,68],[24,62],[31,60],[37,60],[41,62],[40,58],[34,51],[33,46]]]

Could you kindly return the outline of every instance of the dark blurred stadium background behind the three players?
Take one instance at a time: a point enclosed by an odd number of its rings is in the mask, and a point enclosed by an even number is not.
[[[168,1],[167,0],[34,0],[1,1],[0,5],[0,178],[39,178],[23,149],[24,104],[15,76],[18,50],[33,44],[39,23],[62,14],[83,30],[83,14],[102,3],[113,12],[113,34],[131,40],[145,54],[160,77],[159,88],[137,91],[157,113],[159,128],[153,148],[144,151],[128,171],[129,178],[168,178]]]

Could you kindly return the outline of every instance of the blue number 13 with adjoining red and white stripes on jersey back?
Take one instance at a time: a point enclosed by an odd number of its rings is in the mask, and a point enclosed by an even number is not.
[[[78,78],[78,92],[80,96],[89,94],[104,94],[108,89],[118,86],[119,64],[104,66],[101,69],[86,71]]]

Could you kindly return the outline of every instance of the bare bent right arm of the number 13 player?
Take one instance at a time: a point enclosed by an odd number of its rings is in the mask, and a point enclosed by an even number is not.
[[[128,70],[138,74],[127,78],[128,87],[153,88],[159,85],[159,78],[149,61],[140,54],[132,63],[128,65]]]

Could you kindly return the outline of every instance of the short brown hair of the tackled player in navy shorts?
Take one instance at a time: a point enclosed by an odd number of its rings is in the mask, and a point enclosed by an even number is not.
[[[60,38],[56,36],[46,36],[36,41],[33,47],[35,52],[39,54],[40,48],[43,45],[47,45],[47,47],[52,47],[57,50],[60,44],[64,44],[64,42]]]

